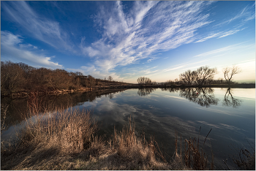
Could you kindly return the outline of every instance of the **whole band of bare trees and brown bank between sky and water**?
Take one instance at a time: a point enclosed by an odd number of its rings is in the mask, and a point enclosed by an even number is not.
[[[237,66],[223,69],[225,80],[214,80],[217,69],[201,66],[195,71],[188,70],[179,79],[156,83],[148,77],[139,77],[138,84],[114,81],[109,76],[104,80],[81,72],[67,72],[64,69],[34,68],[23,63],[1,61],[1,97],[26,97],[30,94],[66,94],[73,92],[95,91],[106,88],[255,88],[255,83],[233,82],[233,75],[241,72]]]

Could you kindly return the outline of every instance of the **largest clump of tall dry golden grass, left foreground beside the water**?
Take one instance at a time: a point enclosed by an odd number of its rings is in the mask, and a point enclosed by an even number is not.
[[[39,113],[37,101],[29,104],[26,128],[20,135],[24,143],[58,145],[63,152],[77,153],[89,147],[97,125],[89,111],[56,108],[55,112]]]

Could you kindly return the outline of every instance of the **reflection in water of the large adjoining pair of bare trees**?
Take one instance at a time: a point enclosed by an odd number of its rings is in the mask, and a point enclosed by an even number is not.
[[[181,89],[179,95],[205,107],[209,107],[211,104],[217,105],[219,101],[214,97],[212,88],[184,88]]]

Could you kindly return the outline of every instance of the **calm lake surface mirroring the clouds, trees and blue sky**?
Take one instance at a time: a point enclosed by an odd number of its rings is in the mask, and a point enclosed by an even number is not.
[[[93,110],[99,134],[104,134],[107,140],[114,126],[121,130],[131,116],[138,134],[144,130],[147,138],[154,136],[167,158],[174,153],[175,130],[183,140],[198,137],[200,130],[201,147],[210,159],[213,151],[219,170],[227,170],[225,159],[229,167],[235,168],[232,157],[236,148],[252,149],[249,142],[255,147],[255,88],[129,89],[104,95],[80,93],[42,99]],[[26,99],[6,99],[1,103],[10,104],[7,131],[1,134],[1,140],[7,140],[15,137],[15,127],[23,126],[18,109],[26,111]]]

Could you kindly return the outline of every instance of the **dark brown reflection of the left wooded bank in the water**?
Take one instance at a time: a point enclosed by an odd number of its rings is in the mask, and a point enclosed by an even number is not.
[[[73,94],[59,94],[57,96],[37,96],[39,102],[39,113],[50,112],[56,108],[67,109],[82,105],[84,102],[93,102],[95,99],[101,97],[103,94],[113,97],[117,90],[101,90],[101,91],[88,91],[83,93]],[[109,95],[110,94],[110,95]],[[5,127],[8,129],[12,125],[17,125],[22,122],[26,117],[28,110],[28,99],[1,99],[1,105],[8,106],[6,118],[4,121]],[[1,119],[4,115],[1,113]]]

